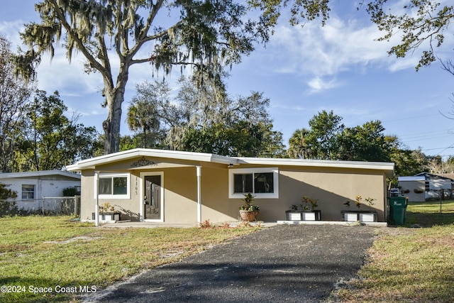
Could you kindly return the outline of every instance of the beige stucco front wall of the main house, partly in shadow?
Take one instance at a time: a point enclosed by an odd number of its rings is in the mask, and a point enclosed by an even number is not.
[[[200,164],[200,163],[199,163]],[[203,164],[203,163],[202,163]],[[243,168],[245,166],[241,166]],[[247,166],[246,166],[247,167]],[[252,167],[251,165],[249,167]],[[263,166],[260,166],[263,167]],[[109,167],[111,170],[113,167]],[[104,169],[107,169],[104,167]],[[164,221],[169,223],[196,223],[197,221],[197,179],[196,167],[156,167],[148,170],[133,170],[131,173],[131,199],[100,199],[99,204],[109,202],[122,211],[122,219],[139,219],[140,213],[140,172],[163,172]],[[82,172],[82,216],[91,219],[94,211],[94,170]],[[139,186],[135,190],[136,182]],[[378,220],[384,221],[386,177],[377,170],[334,169],[311,167],[279,167],[279,199],[256,199],[260,205],[261,221],[285,219],[285,211],[292,204],[300,204],[301,196],[319,199],[321,219],[340,221],[345,201],[354,200],[357,195],[377,199],[373,209]],[[228,198],[228,168],[226,165],[203,166],[201,170],[201,219],[211,222],[238,220],[241,199]],[[352,203],[353,204],[353,203]],[[356,210],[354,204],[350,209]],[[362,209],[370,210],[368,206]]]

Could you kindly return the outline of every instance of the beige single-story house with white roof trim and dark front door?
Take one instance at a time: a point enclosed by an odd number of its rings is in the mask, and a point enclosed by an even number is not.
[[[341,221],[346,200],[376,199],[386,221],[387,177],[394,163],[238,158],[137,148],[67,166],[82,175],[81,219],[109,203],[121,220],[167,223],[238,220],[243,194],[255,195],[260,221],[286,218],[301,197],[318,199],[322,220]]]

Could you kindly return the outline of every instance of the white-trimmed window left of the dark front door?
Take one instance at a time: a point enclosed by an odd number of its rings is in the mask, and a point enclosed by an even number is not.
[[[98,187],[99,198],[130,199],[130,183],[129,174],[100,174]]]

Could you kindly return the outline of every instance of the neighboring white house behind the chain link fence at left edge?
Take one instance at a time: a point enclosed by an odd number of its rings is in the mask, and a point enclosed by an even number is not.
[[[0,183],[16,192],[18,209],[37,210],[44,197],[62,197],[63,189],[77,187],[80,175],[62,170],[0,173]]]

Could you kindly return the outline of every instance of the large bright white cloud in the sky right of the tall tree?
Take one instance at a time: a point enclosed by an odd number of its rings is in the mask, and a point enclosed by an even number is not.
[[[331,16],[323,27],[316,22],[306,23],[304,27],[277,27],[264,53],[270,56],[269,62],[275,63],[275,71],[309,75],[311,80],[307,85],[321,91],[337,87],[338,82],[323,79],[341,72],[377,66],[395,72],[414,67],[414,57],[399,60],[390,57],[387,51],[396,41],[378,42],[376,39],[381,35],[372,23],[365,25],[358,20],[344,21]],[[283,56],[284,52],[288,55]]]

